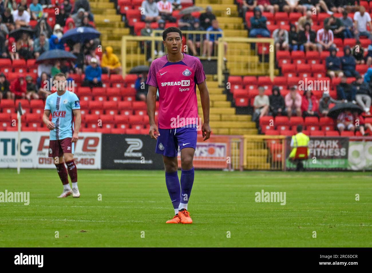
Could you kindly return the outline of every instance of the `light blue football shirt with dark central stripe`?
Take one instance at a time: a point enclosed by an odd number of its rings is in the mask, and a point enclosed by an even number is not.
[[[50,110],[55,128],[50,131],[49,139],[71,138],[74,132],[73,110],[80,109],[80,102],[75,93],[67,91],[58,96],[50,94],[45,100],[44,110]]]

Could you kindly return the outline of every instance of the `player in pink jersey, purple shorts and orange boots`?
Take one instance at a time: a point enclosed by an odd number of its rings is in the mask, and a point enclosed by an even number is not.
[[[209,126],[209,93],[203,65],[199,58],[181,51],[182,32],[170,27],[163,32],[163,44],[168,54],[151,63],[147,78],[147,112],[150,121],[149,134],[157,139],[155,152],[163,155],[165,180],[175,215],[169,224],[191,224],[187,211],[194,167],[192,164],[198,131],[203,140],[211,135]],[[196,85],[203,109],[203,125],[200,127]],[[158,124],[155,124],[156,93],[159,89]],[[178,149],[181,150],[181,183],[177,169]]]

